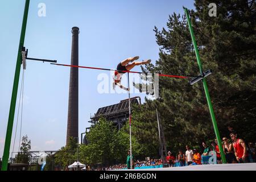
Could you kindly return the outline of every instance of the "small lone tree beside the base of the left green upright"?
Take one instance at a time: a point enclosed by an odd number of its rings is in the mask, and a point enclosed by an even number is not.
[[[28,164],[30,161],[30,150],[31,150],[31,140],[28,140],[27,135],[22,137],[22,143],[20,146],[20,152],[16,156],[15,163],[25,163]]]

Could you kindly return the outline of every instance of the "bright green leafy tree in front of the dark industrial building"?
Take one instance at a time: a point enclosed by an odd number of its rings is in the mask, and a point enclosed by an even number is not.
[[[130,148],[129,125],[117,131],[112,122],[101,118],[96,126],[86,135],[89,144],[80,148],[81,162],[86,164],[112,164],[126,163],[127,150]],[[132,137],[134,147],[133,155],[138,155],[139,145]]]

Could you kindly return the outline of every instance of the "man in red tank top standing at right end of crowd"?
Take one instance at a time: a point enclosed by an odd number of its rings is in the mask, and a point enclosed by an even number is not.
[[[237,138],[236,133],[230,133],[230,138],[233,140],[234,155],[236,156],[237,162],[249,162],[245,141],[243,141],[243,139]]]

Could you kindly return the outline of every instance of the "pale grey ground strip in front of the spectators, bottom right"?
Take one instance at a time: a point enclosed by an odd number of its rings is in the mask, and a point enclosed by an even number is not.
[[[256,171],[256,163],[209,164],[209,165],[167,167],[167,168],[154,168],[154,169],[133,169],[133,171]]]

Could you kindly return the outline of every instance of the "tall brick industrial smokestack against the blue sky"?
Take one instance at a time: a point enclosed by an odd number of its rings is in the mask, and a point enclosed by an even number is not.
[[[72,28],[71,65],[79,65],[79,28]],[[70,69],[67,139],[79,136],[79,68]]]

